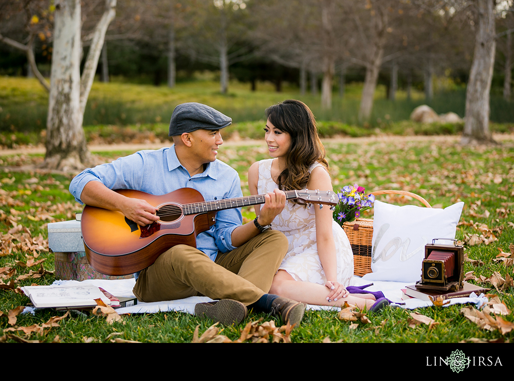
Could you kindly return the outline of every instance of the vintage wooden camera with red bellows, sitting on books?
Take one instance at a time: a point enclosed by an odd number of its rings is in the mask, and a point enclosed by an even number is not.
[[[436,245],[436,240],[453,241],[453,245]],[[456,240],[435,238],[425,245],[421,280],[416,288],[440,292],[457,291],[464,286],[464,251]]]

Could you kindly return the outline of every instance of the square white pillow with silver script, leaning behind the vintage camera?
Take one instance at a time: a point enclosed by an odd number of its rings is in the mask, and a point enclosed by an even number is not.
[[[425,245],[434,238],[455,238],[463,202],[445,209],[396,206],[375,201],[373,219],[373,273],[375,281],[416,282],[421,279]],[[436,241],[436,244],[451,244]]]

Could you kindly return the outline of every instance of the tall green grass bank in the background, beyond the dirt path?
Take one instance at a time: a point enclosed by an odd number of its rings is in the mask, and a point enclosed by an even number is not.
[[[299,89],[292,85],[285,84],[281,93],[275,92],[273,86],[267,82],[259,83],[257,88],[257,91],[251,92],[248,84],[232,81],[229,93],[224,95],[219,93],[219,84],[209,79],[181,82],[173,89],[124,81],[94,82],[86,105],[83,125],[165,126],[169,123],[175,106],[183,102],[208,104],[229,115],[235,123],[254,122],[264,119],[266,107],[292,98],[305,102],[319,121],[345,125],[342,130],[337,129],[335,134],[361,136],[372,133],[360,131],[362,127],[364,130],[377,127],[384,131],[405,130],[402,130],[401,124],[396,123],[408,120],[412,110],[424,103],[433,107],[439,114],[453,111],[463,117],[466,97],[465,91],[457,88],[452,92],[436,94],[427,102],[420,92],[414,91],[409,100],[405,92],[399,91],[396,101],[390,101],[386,99],[386,88],[379,85],[371,118],[361,124],[357,120],[362,90],[360,83],[348,83],[343,99],[334,93],[333,107],[330,111],[321,109],[319,94],[301,95]],[[512,101],[506,102],[493,94],[490,104],[492,121],[514,123]],[[27,135],[30,135],[31,139],[37,137],[46,126],[47,107],[48,94],[36,79],[0,77],[0,132],[3,135],[14,134],[19,141],[29,140]],[[462,127],[458,126],[436,130],[445,133],[448,129],[452,133],[462,131]],[[427,133],[427,129],[422,133]],[[10,138],[3,138],[5,139]]]

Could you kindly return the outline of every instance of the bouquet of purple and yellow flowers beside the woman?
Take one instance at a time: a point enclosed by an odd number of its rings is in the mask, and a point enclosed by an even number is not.
[[[365,189],[357,184],[347,185],[338,193],[339,203],[334,210],[334,221],[339,225],[343,222],[353,221],[364,210],[370,209],[375,202],[373,194],[364,194]]]

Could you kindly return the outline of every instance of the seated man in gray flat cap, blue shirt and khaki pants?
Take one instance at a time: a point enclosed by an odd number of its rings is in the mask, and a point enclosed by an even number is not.
[[[118,210],[141,226],[159,220],[155,206],[113,189],[162,195],[193,188],[207,202],[242,197],[237,172],[216,159],[223,143],[220,130],[231,123],[204,104],[180,104],[171,117],[170,148],[139,151],[88,168],[71,181],[69,190],[78,202]],[[205,295],[219,301],[197,304],[195,314],[224,324],[241,322],[247,306],[299,324],[302,303],[267,294],[288,246],[284,235],[269,227],[285,199],[278,189],[268,193],[258,219],[244,225],[239,208],[218,211],[210,230],[197,235],[196,248],[173,246],[139,271],[134,294],[143,302]]]

